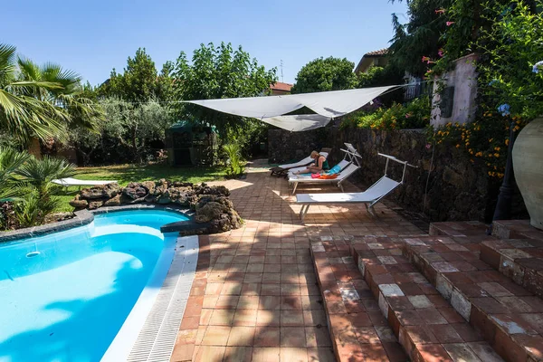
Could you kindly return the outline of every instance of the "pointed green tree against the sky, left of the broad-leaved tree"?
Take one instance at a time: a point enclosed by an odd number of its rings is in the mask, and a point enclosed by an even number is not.
[[[132,102],[167,100],[168,84],[171,86],[171,68],[171,62],[167,62],[159,76],[151,56],[145,48],[138,48],[134,58],[129,57],[127,67],[122,73],[115,69],[111,71],[110,79],[100,86],[100,96],[117,97]]]

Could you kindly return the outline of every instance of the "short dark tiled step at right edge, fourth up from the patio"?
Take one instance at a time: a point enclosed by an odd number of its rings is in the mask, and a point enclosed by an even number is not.
[[[543,297],[543,241],[506,239],[481,243],[481,260]]]

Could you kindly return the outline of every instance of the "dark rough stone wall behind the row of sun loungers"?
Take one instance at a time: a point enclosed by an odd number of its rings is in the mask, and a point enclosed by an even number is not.
[[[431,221],[491,220],[500,184],[487,176],[488,170],[484,164],[479,161],[472,163],[461,149],[443,145],[434,150],[427,148],[426,136],[422,130],[326,128],[326,131],[326,141],[322,146],[333,148],[329,156],[331,165],[343,157],[340,148],[345,148],[344,142],[352,143],[362,155],[361,169],[350,178],[350,181],[360,188],[365,189],[383,176],[386,158],[379,157],[377,152],[380,152],[417,166],[407,168],[405,185],[388,196],[406,210],[424,212]],[[303,133],[300,138],[300,134],[274,130],[269,134],[270,155],[279,157],[277,155],[281,154],[281,150],[289,148],[291,144],[304,150],[321,147],[311,143],[318,138],[311,135],[311,131]],[[291,137],[296,139],[291,142]],[[273,138],[279,138],[281,142]],[[301,145],[304,139],[307,142],[305,147]],[[280,148],[275,147],[278,143]],[[301,156],[308,155],[309,152],[306,152]],[[403,167],[394,162],[390,165],[389,176],[396,180],[401,179]],[[432,172],[429,173],[430,169]],[[426,182],[428,187],[424,197]],[[513,214],[525,212],[519,193],[513,203]]]

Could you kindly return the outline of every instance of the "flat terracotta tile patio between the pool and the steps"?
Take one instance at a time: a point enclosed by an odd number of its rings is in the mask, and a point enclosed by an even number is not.
[[[244,180],[214,183],[231,190],[245,224],[200,238],[172,361],[334,361],[310,237],[423,233],[385,205],[376,206],[376,218],[363,205],[316,206],[302,224],[288,182],[256,166]]]

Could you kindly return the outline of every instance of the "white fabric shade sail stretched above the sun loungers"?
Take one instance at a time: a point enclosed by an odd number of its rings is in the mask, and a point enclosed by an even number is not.
[[[186,102],[236,116],[261,119],[281,129],[302,131],[324,127],[329,123],[330,119],[357,110],[387,90],[396,87],[399,86],[321,91],[270,97],[186,100]],[[284,116],[291,111],[300,110],[304,106],[317,114]]]

